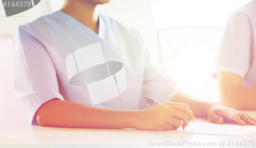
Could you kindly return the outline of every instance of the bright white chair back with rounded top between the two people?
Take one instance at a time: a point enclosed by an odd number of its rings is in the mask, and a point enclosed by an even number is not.
[[[218,101],[217,80],[212,77],[222,29],[172,27],[159,32],[164,67],[183,92]]]

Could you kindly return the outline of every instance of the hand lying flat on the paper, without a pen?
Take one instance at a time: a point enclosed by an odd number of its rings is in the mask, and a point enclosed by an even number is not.
[[[208,110],[208,119],[211,122],[222,124],[224,119],[232,119],[240,125],[256,125],[256,119],[234,109],[227,108],[218,103],[212,103]]]

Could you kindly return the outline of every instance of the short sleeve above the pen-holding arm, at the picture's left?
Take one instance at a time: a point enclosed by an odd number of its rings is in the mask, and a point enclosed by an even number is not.
[[[16,96],[29,124],[38,124],[35,113],[43,103],[64,99],[59,94],[53,61],[29,24],[18,27],[12,58]]]

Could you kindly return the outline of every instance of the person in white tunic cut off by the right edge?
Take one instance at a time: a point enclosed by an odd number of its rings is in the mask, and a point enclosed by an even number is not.
[[[219,98],[227,107],[256,110],[256,1],[231,13],[217,60]]]

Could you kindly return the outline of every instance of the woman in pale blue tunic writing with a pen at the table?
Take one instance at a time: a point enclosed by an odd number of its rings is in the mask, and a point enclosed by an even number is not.
[[[173,130],[194,115],[256,124],[221,104],[190,99],[172,79],[154,77],[140,32],[98,14],[96,6],[104,3],[109,0],[68,0],[60,11],[18,27],[14,84],[30,124]],[[161,104],[150,108],[144,95]]]

